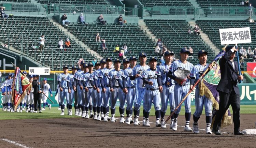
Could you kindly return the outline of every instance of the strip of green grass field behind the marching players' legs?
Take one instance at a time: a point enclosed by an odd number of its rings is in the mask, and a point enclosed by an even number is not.
[[[115,116],[119,117],[119,111],[118,111],[118,107],[116,107],[116,113]],[[256,114],[256,105],[241,105],[241,109],[240,109],[240,113],[241,114]],[[142,116],[142,110],[143,108],[141,108],[141,112],[140,115]],[[47,119],[47,118],[81,118],[81,117],[77,117],[74,116],[74,108],[72,108],[73,111],[73,116],[68,116],[67,115],[67,109],[65,110],[65,116],[60,116],[61,111],[57,110],[57,107],[52,107],[52,109],[48,109],[48,107],[46,107],[46,110],[43,110],[43,113],[26,113],[25,110],[22,113],[10,113],[10,112],[3,112],[2,109],[0,110],[0,120],[8,120],[8,119]],[[191,106],[191,113],[193,114],[195,112],[195,106]],[[232,114],[232,108],[230,106],[230,112]],[[181,113],[180,115],[184,115],[185,114],[185,110],[184,110],[184,106],[182,106],[181,109]],[[204,110],[203,113],[204,114]],[[166,115],[170,115],[170,108],[167,110],[167,114]],[[111,113],[110,113],[111,116]],[[152,106],[151,112],[150,112],[150,116],[155,116],[155,109]]]

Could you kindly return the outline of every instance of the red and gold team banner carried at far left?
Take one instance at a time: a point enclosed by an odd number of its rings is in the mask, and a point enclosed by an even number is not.
[[[14,110],[17,109],[19,103],[27,94],[27,89],[31,89],[31,86],[32,84],[29,82],[29,79],[17,67],[15,70],[15,77],[12,87],[12,102],[14,105]]]

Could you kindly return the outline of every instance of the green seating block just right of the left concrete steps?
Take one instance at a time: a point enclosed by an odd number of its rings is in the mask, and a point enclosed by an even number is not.
[[[104,58],[118,58],[118,54],[114,53],[113,50],[116,44],[121,50],[124,43],[128,47],[128,51],[131,51],[131,53],[125,54],[127,58],[130,56],[138,57],[141,52],[145,52],[148,57],[155,56],[155,43],[146,36],[143,30],[140,30],[137,24],[127,24],[122,27],[119,24],[99,25],[93,23],[84,27],[75,23],[68,26],[68,31]],[[101,40],[106,41],[108,52],[103,52],[100,48],[101,42],[96,42],[95,35],[97,32],[99,32]]]

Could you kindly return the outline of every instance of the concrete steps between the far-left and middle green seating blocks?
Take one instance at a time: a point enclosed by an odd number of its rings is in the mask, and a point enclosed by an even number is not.
[[[61,31],[63,31],[65,34],[67,34],[68,36],[70,36],[70,39],[74,40],[76,43],[80,44],[84,49],[87,49],[87,51],[95,56],[97,59],[103,59],[103,57],[101,57],[97,52],[95,52],[94,50],[92,50],[90,47],[88,47],[87,45],[85,45],[82,41],[80,41],[79,39],[77,39],[72,33],[70,33],[67,29],[65,29],[62,25],[60,25],[59,23],[57,23],[57,21],[55,19],[50,19],[51,22],[53,22],[53,24],[55,26],[57,26]]]

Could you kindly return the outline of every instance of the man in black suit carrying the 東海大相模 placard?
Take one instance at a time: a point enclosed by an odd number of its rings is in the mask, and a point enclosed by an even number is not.
[[[216,135],[221,135],[221,121],[229,105],[233,109],[234,134],[243,134],[240,132],[240,91],[237,87],[238,80],[243,80],[243,76],[238,75],[238,64],[234,61],[237,50],[234,46],[227,46],[226,54],[219,59],[221,80],[216,88],[219,92],[219,110],[216,112],[212,130]]]

